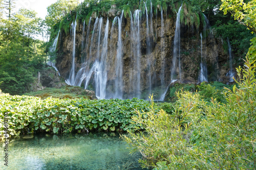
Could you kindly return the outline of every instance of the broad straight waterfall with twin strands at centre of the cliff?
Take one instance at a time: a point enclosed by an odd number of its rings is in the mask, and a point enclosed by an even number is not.
[[[136,10],[134,12],[134,19],[131,14],[131,51],[133,54],[134,60],[134,75],[130,76],[130,80],[135,80],[135,82],[131,81],[131,86],[136,85],[136,98],[140,99],[140,10]],[[133,79],[134,76],[134,79]]]

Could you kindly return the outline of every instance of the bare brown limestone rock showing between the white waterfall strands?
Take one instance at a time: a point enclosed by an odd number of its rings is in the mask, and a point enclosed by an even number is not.
[[[114,8],[114,7],[113,7]],[[106,83],[107,93],[112,93],[115,88],[116,75],[116,55],[118,46],[118,24],[113,26],[114,14],[121,12],[111,9],[109,17],[103,17],[101,34],[99,38],[99,23],[95,25],[96,16],[93,16],[91,24],[83,28],[83,21],[77,20],[76,27],[76,51],[75,51],[75,68],[76,72],[82,66],[82,58],[88,62],[90,68],[97,56],[102,52],[103,37],[105,24],[109,19],[109,33],[108,33],[108,56],[105,61],[108,80]],[[149,18],[149,24],[153,26],[153,30],[148,35],[151,40],[150,53],[147,51],[147,31],[146,31],[146,16],[142,14],[140,19],[140,68],[136,68],[138,56],[134,55],[134,46],[132,43],[135,41],[132,37],[131,19],[129,17],[122,17],[122,62],[123,62],[123,95],[124,98],[130,98],[136,93],[143,93],[148,89],[155,87],[167,87],[170,84],[170,71],[172,69],[173,49],[174,49],[174,35],[175,35],[175,22],[176,14],[171,10],[163,13],[163,23],[161,22],[161,13],[153,15]],[[164,24],[164,28],[161,25]],[[96,27],[96,28],[94,28]],[[84,30],[84,32],[83,32]],[[163,32],[162,32],[163,31]],[[180,61],[181,61],[181,82],[198,82],[198,75],[201,61],[201,38],[200,33],[203,32],[203,26],[197,29],[194,26],[181,26],[181,45],[180,45]],[[99,40],[100,39],[100,40]],[[86,42],[87,41],[87,42]],[[100,41],[100,42],[98,42]],[[208,70],[209,81],[225,81],[227,78],[225,74],[227,67],[224,66],[228,57],[227,52],[222,47],[222,41],[214,36],[214,31],[210,33],[206,40],[203,42],[206,47],[206,62]],[[98,47],[100,51],[98,51]],[[60,30],[58,40],[58,57],[56,60],[56,67],[60,75],[68,79],[73,53],[73,37],[70,34],[65,34],[65,31]],[[227,64],[226,64],[227,65]],[[178,69],[178,68],[177,68]],[[140,88],[136,89],[135,84],[138,83],[137,72],[140,72]],[[178,70],[176,70],[178,72]],[[95,74],[95,73],[93,73]],[[93,76],[91,78],[93,86]],[[151,90],[153,91],[153,90]],[[157,92],[156,92],[157,93]],[[160,92],[159,92],[160,93]]]

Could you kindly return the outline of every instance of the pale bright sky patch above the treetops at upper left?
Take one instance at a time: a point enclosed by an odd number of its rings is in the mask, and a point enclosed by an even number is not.
[[[57,0],[17,0],[16,9],[26,8],[34,10],[40,18],[45,19],[45,16],[47,15],[46,8],[56,1]]]

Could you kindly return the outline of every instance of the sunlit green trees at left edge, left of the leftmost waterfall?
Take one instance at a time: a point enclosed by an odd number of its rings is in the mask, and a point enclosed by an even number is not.
[[[10,94],[29,91],[37,71],[44,65],[41,19],[35,11],[19,9],[8,19],[0,18],[0,88]]]

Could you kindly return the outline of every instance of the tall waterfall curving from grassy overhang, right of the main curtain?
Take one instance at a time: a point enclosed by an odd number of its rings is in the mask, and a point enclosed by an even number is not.
[[[171,71],[171,81],[177,79],[176,76],[176,62],[177,58],[179,59],[179,80],[181,80],[181,66],[180,66],[180,11],[181,11],[182,4],[179,8],[177,18],[176,18],[176,28],[175,28],[175,35],[174,35],[174,56],[173,56],[173,66]]]

